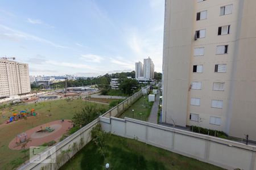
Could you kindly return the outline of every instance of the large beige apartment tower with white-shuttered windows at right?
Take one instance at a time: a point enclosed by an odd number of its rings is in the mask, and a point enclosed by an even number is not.
[[[256,141],[255,0],[166,0],[162,112]]]

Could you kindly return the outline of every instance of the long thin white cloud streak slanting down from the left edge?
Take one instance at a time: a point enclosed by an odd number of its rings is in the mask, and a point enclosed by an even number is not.
[[[49,45],[55,46],[57,48],[68,48],[68,47],[65,47],[62,45],[55,44],[52,41],[42,39],[40,37],[30,35],[28,33],[12,29],[12,28],[6,27],[5,25],[1,25],[1,24],[0,24],[0,36],[5,37],[7,39],[15,40],[15,41],[16,40],[33,40],[33,41],[37,41],[37,42],[43,42],[45,44],[49,44]]]

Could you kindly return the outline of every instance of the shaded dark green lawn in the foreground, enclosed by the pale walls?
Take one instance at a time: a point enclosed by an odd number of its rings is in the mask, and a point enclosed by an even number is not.
[[[200,162],[154,146],[146,145],[135,139],[109,135],[106,139],[108,154],[100,155],[97,146],[90,142],[61,169],[222,169],[212,164]]]

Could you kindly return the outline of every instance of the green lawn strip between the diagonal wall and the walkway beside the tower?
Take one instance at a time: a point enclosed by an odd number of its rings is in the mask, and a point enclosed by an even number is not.
[[[130,117],[133,118],[133,109],[134,109],[134,118],[138,120],[147,121],[148,116],[150,115],[153,102],[148,102],[147,96],[142,96],[137,100],[131,107],[129,107],[125,112],[119,116],[120,118]]]

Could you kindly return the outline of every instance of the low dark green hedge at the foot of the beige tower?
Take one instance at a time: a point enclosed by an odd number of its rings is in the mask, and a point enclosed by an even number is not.
[[[215,136],[215,133],[216,133],[216,137],[219,137],[219,138],[225,138],[227,139],[228,138],[228,135],[224,132],[224,131],[218,131],[218,130],[212,130],[212,129],[206,129],[206,128],[201,128],[199,126],[190,126],[190,130],[192,131],[193,129],[193,132],[195,133],[201,133],[201,134],[206,134],[208,135],[208,131],[209,131],[209,135],[210,136]]]

